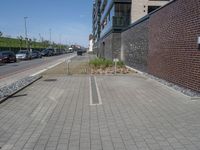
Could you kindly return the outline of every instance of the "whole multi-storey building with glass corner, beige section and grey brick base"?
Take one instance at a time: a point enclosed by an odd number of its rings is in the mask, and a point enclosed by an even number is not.
[[[95,0],[93,49],[98,56],[122,59],[121,32],[170,0]]]

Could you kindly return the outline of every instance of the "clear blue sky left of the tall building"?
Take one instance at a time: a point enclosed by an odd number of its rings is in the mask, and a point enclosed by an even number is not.
[[[92,0],[1,0],[0,31],[13,37],[24,36],[24,17],[28,36],[55,42],[88,46],[92,31]]]

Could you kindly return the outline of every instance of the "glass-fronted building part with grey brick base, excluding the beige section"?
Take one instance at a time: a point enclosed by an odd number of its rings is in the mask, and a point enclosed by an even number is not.
[[[102,0],[100,16],[97,55],[107,59],[119,57],[120,32],[131,23],[131,0]]]

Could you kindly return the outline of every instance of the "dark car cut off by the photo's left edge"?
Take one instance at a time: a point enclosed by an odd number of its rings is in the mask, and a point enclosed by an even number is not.
[[[0,63],[10,63],[10,62],[16,62],[16,56],[15,53],[11,51],[2,51],[0,52]]]

